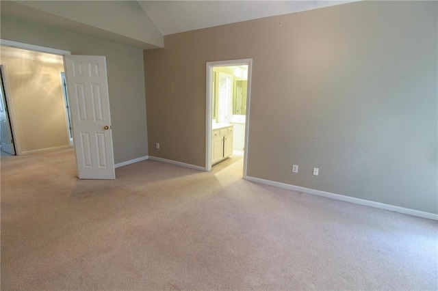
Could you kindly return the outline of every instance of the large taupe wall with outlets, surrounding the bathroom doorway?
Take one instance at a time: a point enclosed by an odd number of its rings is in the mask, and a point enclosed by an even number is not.
[[[203,167],[205,63],[252,57],[248,176],[438,214],[437,5],[360,1],[166,36],[144,51],[151,156]]]

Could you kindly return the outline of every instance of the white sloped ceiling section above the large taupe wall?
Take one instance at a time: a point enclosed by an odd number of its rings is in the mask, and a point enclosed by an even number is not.
[[[138,0],[164,36],[217,25],[312,10],[358,0],[149,1]]]

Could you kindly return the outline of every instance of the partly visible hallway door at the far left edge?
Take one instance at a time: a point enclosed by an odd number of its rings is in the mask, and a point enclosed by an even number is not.
[[[1,150],[8,154],[15,155],[14,139],[8,113],[8,102],[6,102],[5,87],[3,84],[3,71],[0,68],[0,141]]]

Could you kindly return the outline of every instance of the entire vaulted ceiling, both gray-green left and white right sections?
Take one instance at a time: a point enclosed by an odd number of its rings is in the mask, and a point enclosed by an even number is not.
[[[1,14],[62,27],[143,49],[164,36],[358,0],[323,1],[21,1],[1,0]]]

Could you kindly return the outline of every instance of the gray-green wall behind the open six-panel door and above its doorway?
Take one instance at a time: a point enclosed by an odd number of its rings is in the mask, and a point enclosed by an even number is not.
[[[1,38],[107,60],[115,163],[148,154],[143,52],[100,38],[1,14]]]

